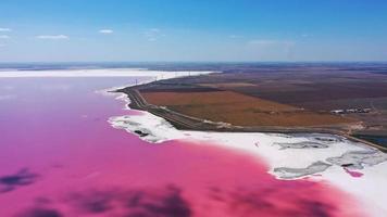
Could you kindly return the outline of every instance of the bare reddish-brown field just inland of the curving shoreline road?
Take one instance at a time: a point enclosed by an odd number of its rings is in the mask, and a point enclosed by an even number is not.
[[[213,122],[237,126],[322,126],[353,122],[234,91],[141,92],[148,103]]]

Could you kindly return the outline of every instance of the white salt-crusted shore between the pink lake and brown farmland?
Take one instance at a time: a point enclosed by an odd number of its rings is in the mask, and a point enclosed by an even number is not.
[[[355,196],[371,216],[387,215],[387,190],[384,188],[387,155],[366,144],[323,133],[185,131],[153,114],[140,113],[111,117],[109,123],[154,144],[188,140],[198,145],[220,145],[263,158],[269,173],[278,179],[327,181]]]

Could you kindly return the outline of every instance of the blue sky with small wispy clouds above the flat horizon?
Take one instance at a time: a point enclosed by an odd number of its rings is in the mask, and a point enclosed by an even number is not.
[[[0,1],[0,62],[84,61],[387,61],[387,1]]]

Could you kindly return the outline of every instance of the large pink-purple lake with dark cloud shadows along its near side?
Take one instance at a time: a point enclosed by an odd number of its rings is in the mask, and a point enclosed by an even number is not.
[[[242,153],[112,128],[138,113],[95,90],[132,81],[0,79],[1,217],[363,216],[328,183],[277,180]]]

